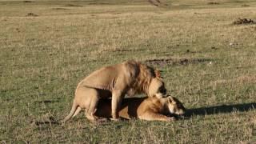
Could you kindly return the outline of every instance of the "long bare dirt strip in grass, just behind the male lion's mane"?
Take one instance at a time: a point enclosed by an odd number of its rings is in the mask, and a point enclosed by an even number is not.
[[[146,64],[155,66],[166,66],[166,65],[188,65],[202,62],[212,62],[211,59],[207,58],[160,58],[150,59],[145,61]]]

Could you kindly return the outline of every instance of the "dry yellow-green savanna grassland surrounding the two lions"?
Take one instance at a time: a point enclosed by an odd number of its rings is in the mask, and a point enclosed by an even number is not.
[[[233,24],[256,2],[154,2],[0,0],[0,142],[256,142],[256,25]],[[82,78],[129,59],[154,59],[185,118],[58,125]]]

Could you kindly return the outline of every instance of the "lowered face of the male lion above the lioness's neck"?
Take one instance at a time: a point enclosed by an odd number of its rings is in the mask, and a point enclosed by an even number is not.
[[[153,78],[149,86],[149,96],[157,96],[162,98],[166,95],[165,83],[162,82],[162,78]]]

